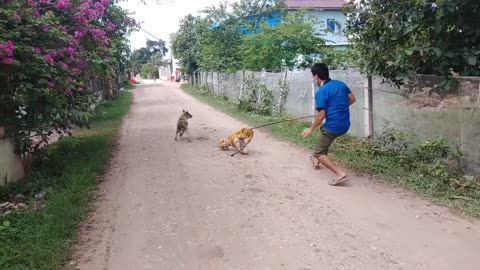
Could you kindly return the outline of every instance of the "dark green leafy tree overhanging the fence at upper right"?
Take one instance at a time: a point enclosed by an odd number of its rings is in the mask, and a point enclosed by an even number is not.
[[[479,11],[477,0],[352,1],[347,29],[364,71],[397,85],[410,73],[478,76]]]

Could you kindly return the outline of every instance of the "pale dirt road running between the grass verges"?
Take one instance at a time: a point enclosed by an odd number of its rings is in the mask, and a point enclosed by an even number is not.
[[[191,143],[174,141],[184,108]],[[330,187],[261,130],[250,155],[219,151],[242,126],[177,85],[137,88],[71,268],[480,269],[478,223],[366,178]]]

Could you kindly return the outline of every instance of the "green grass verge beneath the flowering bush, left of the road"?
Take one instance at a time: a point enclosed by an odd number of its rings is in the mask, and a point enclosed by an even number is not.
[[[26,210],[0,218],[0,269],[61,269],[71,255],[80,221],[102,174],[114,136],[128,113],[132,94],[121,91],[104,105],[106,115],[92,121],[91,130],[64,139],[49,149],[48,160],[34,166],[26,184],[3,188],[5,194],[34,195],[48,191],[41,210]]]

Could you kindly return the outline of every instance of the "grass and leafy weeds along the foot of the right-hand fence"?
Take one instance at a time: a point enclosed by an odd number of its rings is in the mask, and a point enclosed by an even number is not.
[[[214,96],[205,89],[182,85],[191,96],[252,126],[285,118],[259,116],[238,109],[224,97]],[[272,135],[313,149],[317,136],[301,137],[309,123],[287,122],[265,127]],[[444,141],[414,143],[406,136],[393,136],[394,131],[381,134],[373,141],[342,136],[332,146],[331,155],[342,166],[376,176],[376,179],[411,190],[461,214],[480,217],[480,179],[469,176],[452,162],[455,151]],[[452,156],[453,155],[453,156]],[[459,159],[460,160],[460,159]]]

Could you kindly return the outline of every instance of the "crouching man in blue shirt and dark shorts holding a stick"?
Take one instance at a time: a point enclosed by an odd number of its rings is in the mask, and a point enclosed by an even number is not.
[[[320,87],[315,94],[315,109],[318,113],[312,126],[303,131],[303,137],[308,137],[321,126],[320,137],[311,158],[316,168],[321,163],[335,173],[336,177],[328,182],[329,185],[335,186],[347,181],[347,174],[330,160],[327,156],[328,149],[336,138],[350,129],[349,107],[356,99],[345,83],[330,79],[327,65],[315,64],[311,71],[314,81]],[[324,119],[325,124],[322,126]]]

